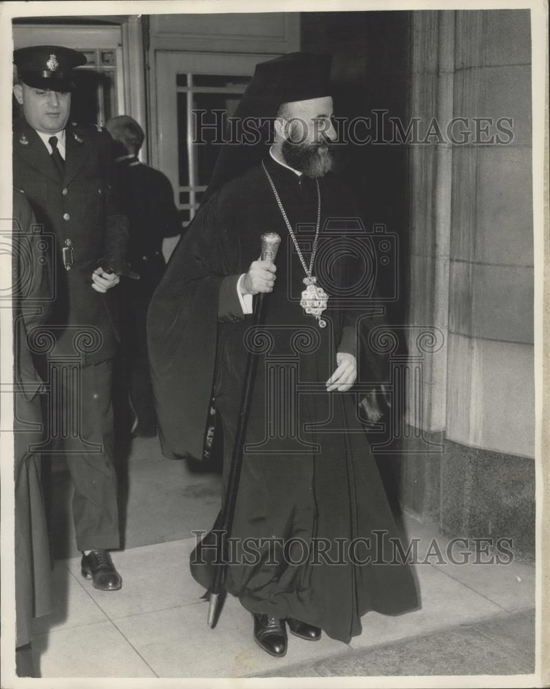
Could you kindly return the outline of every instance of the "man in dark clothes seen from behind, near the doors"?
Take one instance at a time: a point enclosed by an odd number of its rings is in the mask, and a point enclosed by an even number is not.
[[[162,240],[181,232],[173,189],[164,174],[138,160],[145,134],[127,115],[105,125],[114,138],[116,169],[129,219],[128,260],[139,280],[126,280],[123,289],[123,353],[127,367],[131,433],[142,438],[156,435],[156,418],[147,357],[146,321],[149,302],[165,271]]]

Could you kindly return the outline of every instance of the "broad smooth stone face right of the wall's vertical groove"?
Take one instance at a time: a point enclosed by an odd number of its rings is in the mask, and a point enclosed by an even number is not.
[[[534,548],[531,46],[527,10],[456,13],[444,533]],[[500,121],[498,119],[506,118]],[[511,133],[503,129],[511,130]],[[502,143],[498,143],[498,138]]]

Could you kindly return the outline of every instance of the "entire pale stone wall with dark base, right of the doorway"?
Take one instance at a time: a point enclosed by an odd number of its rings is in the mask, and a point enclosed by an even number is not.
[[[434,325],[445,338],[426,358],[420,412],[410,405],[407,416],[411,426],[445,435],[440,511],[426,503],[414,512],[439,517],[448,535],[512,537],[517,551],[529,555],[535,438],[529,12],[415,12],[410,114],[436,116],[443,132],[450,119],[465,117],[474,132],[462,145],[410,145],[408,321]],[[496,126],[474,121],[485,117],[511,118],[511,141],[507,134],[500,136],[507,143],[491,143]],[[417,454],[416,462],[423,461],[423,480],[433,482],[433,457]]]

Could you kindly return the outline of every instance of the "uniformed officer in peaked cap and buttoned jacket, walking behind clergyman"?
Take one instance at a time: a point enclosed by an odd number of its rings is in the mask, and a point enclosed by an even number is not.
[[[13,178],[55,240],[52,315],[46,333],[34,340],[30,333],[41,375],[50,384],[47,451],[60,450],[67,458],[83,575],[95,588],[117,590],[122,579],[107,552],[120,546],[114,288],[127,270],[128,223],[112,185],[111,137],[101,127],[69,123],[72,70],[85,62],[80,52],[57,45],[14,52],[21,116],[14,122]]]

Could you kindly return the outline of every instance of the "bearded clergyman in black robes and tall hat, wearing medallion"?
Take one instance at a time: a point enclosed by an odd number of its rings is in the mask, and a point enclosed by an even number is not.
[[[368,276],[341,250],[359,212],[331,172],[329,76],[330,56],[257,65],[235,117],[248,132],[271,119],[271,141],[224,145],[149,309],[162,451],[201,457],[219,418],[222,504],[246,360],[259,358],[224,585],[276,657],[287,630],[348,642],[369,610],[418,606],[408,567],[374,552],[376,532],[392,538],[396,527],[357,414],[365,307],[354,290]],[[265,232],[282,238],[275,262],[259,258]],[[264,322],[253,331],[260,293]],[[207,568],[192,572],[209,585]]]

